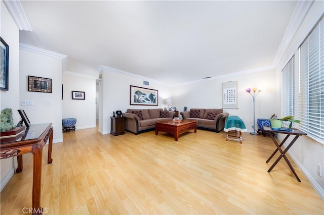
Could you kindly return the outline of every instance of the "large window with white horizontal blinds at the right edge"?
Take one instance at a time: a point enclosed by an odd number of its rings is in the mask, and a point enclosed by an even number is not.
[[[301,130],[324,144],[324,21],[318,21],[299,47]]]

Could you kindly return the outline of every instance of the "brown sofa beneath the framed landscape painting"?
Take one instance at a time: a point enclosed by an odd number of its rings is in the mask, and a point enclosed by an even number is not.
[[[125,130],[136,135],[151,131],[155,129],[155,122],[172,120],[174,115],[175,112],[165,112],[163,109],[127,109],[126,113],[123,113]]]

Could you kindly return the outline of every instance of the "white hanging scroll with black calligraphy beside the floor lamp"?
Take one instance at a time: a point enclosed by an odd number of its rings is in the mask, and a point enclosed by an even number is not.
[[[237,81],[222,84],[223,109],[237,109]]]

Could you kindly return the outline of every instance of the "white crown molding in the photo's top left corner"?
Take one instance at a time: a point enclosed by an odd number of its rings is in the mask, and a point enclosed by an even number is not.
[[[20,1],[3,0],[19,30],[32,31]]]

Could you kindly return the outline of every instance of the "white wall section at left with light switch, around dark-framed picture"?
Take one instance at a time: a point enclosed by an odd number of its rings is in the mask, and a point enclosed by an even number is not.
[[[19,62],[20,100],[34,101],[34,105],[20,106],[20,109],[25,110],[25,113],[32,124],[51,122],[54,128],[53,143],[62,142],[63,60],[42,53],[20,49]],[[51,78],[53,85],[52,93],[28,91],[28,75]]]

